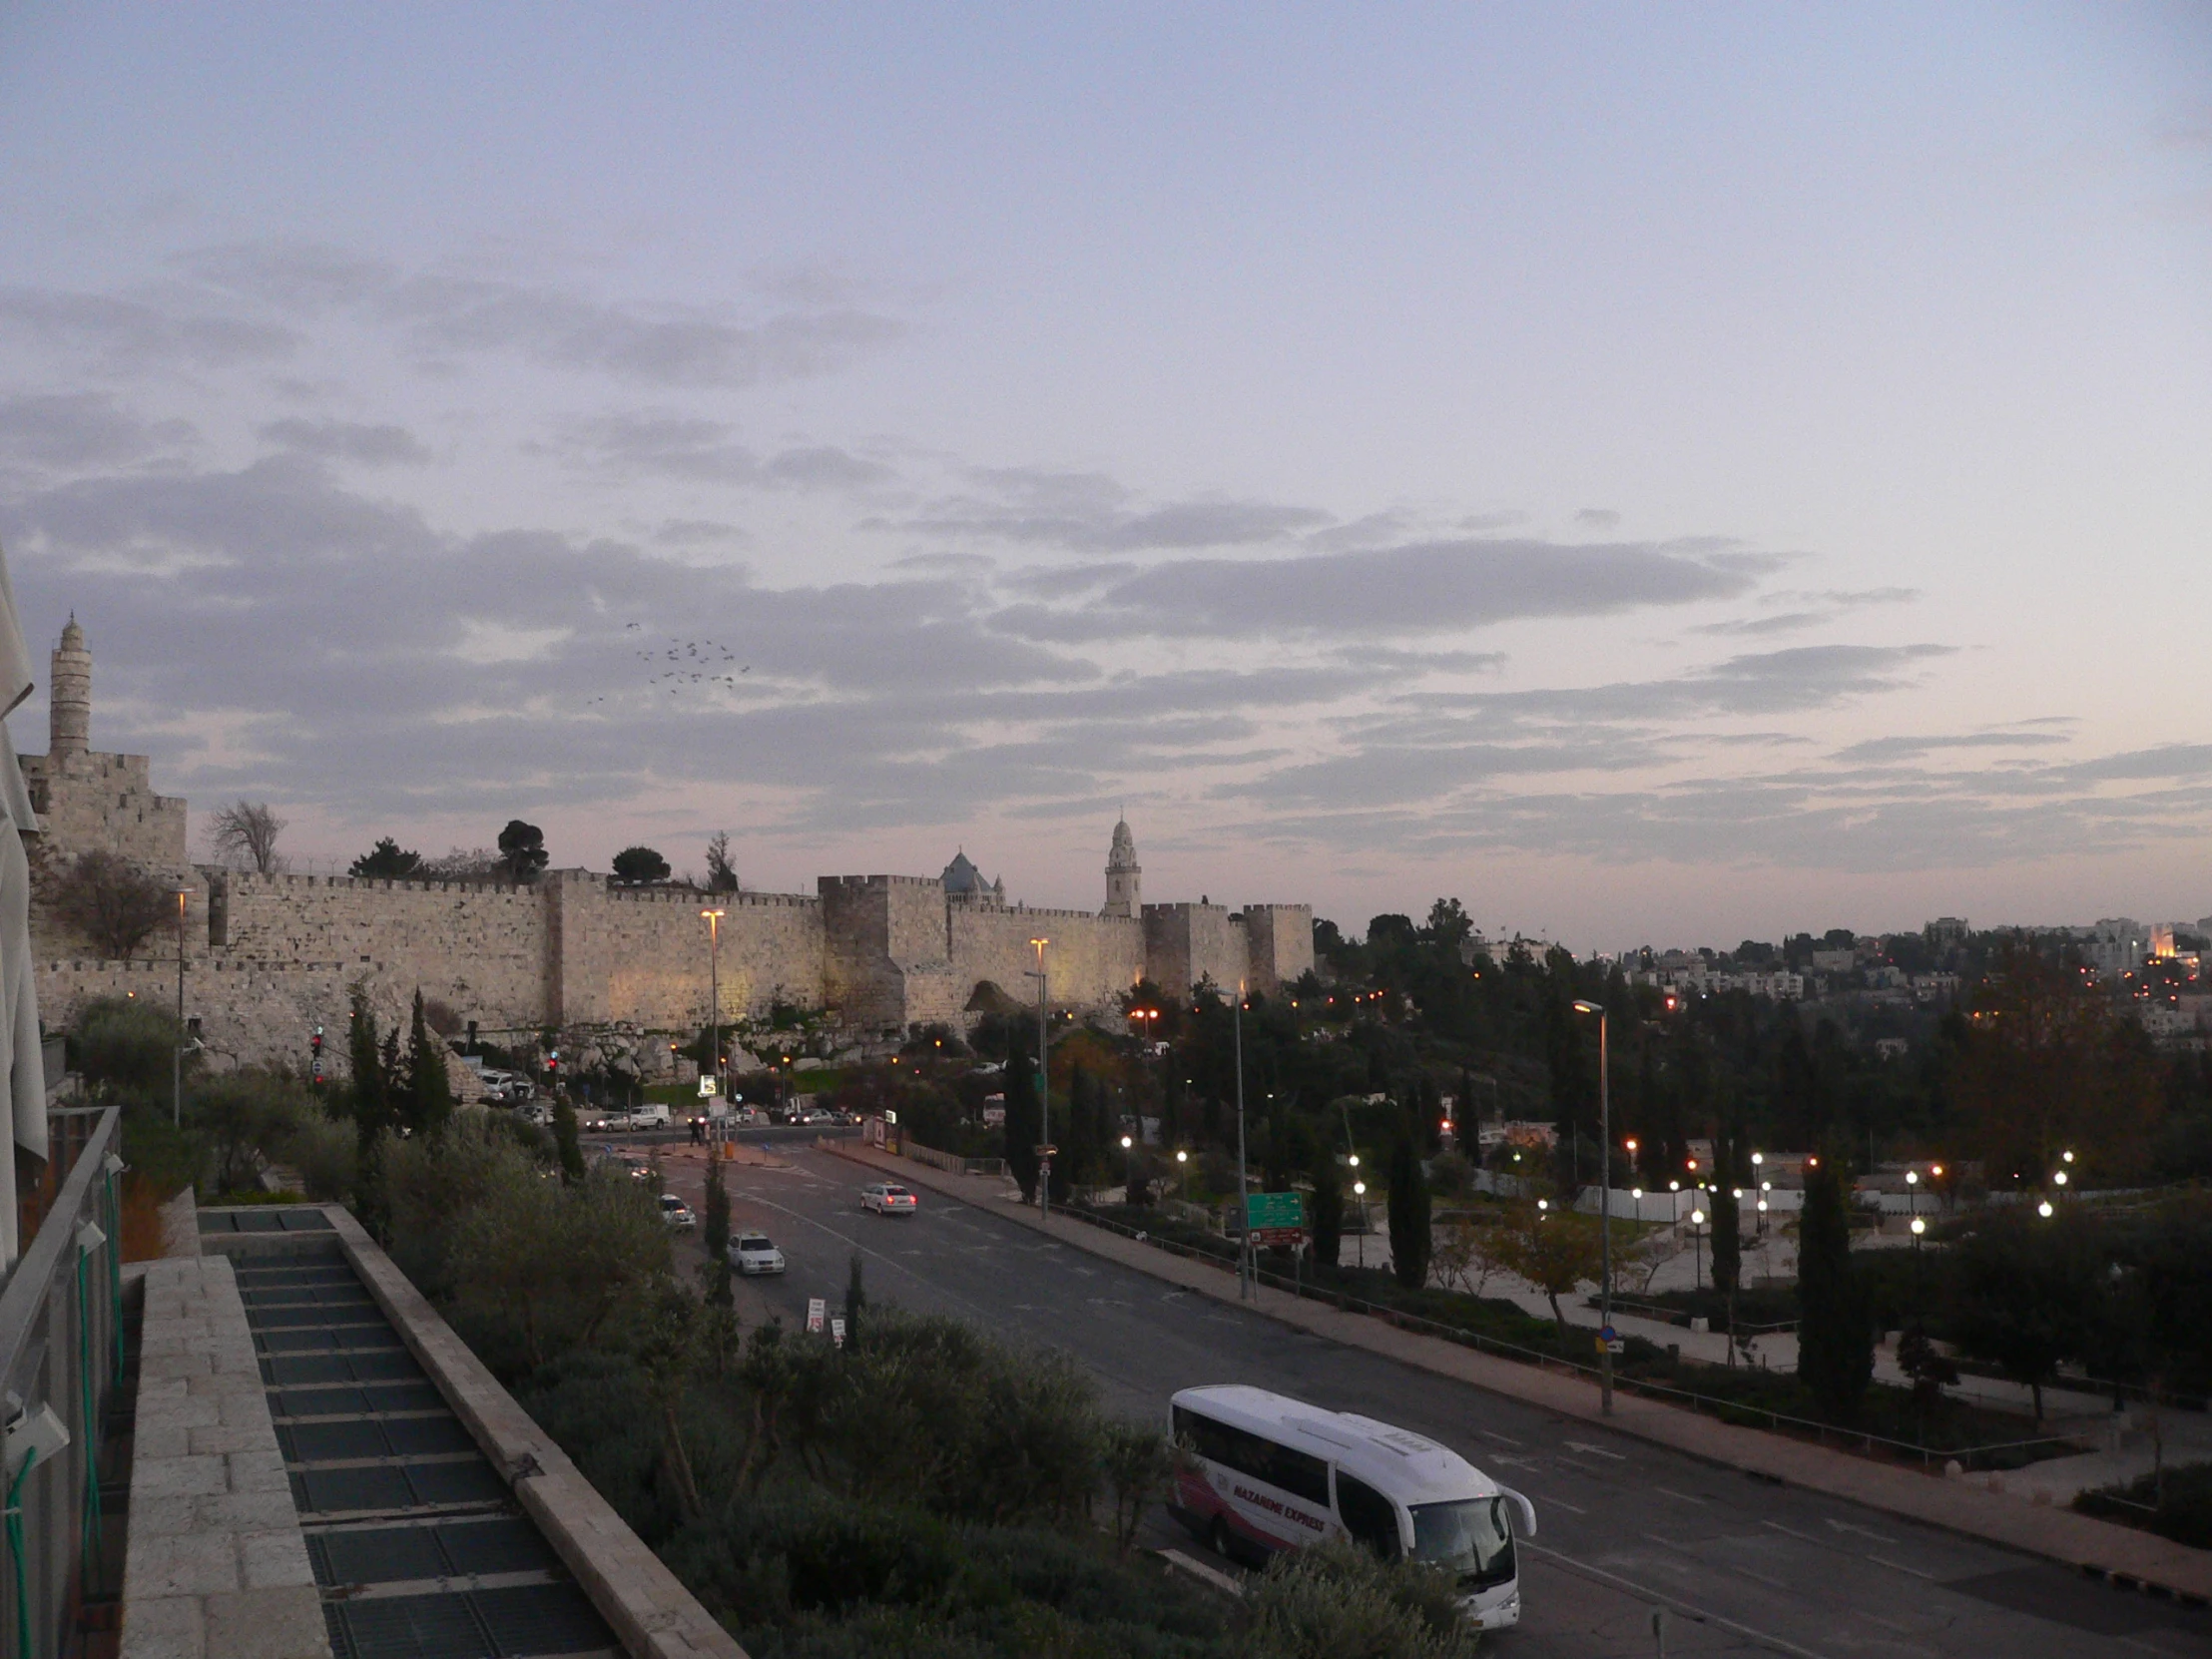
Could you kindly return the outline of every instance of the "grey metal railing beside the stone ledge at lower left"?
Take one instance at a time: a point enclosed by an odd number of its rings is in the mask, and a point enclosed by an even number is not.
[[[7,1659],[58,1659],[86,1597],[122,1584],[100,1506],[100,1436],[124,1374],[122,1110],[100,1110],[84,1130],[55,1148],[73,1144],[75,1159],[0,1287]]]

